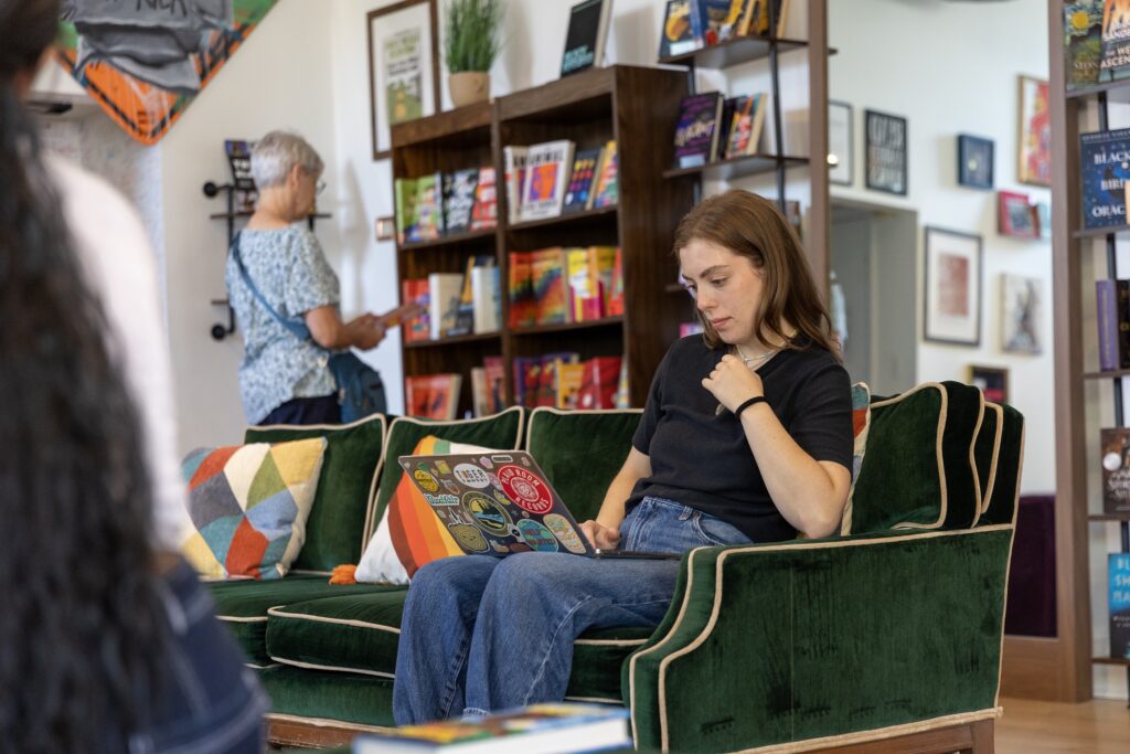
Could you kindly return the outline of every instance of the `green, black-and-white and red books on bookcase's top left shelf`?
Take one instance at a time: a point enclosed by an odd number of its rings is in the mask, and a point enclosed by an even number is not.
[[[498,224],[495,170],[469,167],[393,182],[397,241],[435,241]]]

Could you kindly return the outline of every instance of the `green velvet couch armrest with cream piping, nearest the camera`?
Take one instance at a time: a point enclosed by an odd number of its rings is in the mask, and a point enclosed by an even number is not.
[[[624,666],[636,746],[850,743],[994,717],[1011,541],[1006,525],[692,551]]]

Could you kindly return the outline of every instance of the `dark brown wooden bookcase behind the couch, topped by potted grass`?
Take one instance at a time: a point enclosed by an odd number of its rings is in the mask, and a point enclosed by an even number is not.
[[[399,244],[398,284],[431,272],[462,272],[468,257],[493,254],[501,268],[502,328],[494,335],[403,343],[406,378],[435,372],[463,375],[458,415],[471,408],[470,370],[502,356],[506,402],[514,400],[511,359],[559,350],[582,359],[623,355],[628,400],[643,406],[651,375],[678,333],[683,311],[664,286],[675,279],[670,257],[675,226],[693,206],[687,183],[663,180],[670,135],[687,78],[679,70],[632,66],[599,68],[496,99],[392,128],[394,179],[494,165],[498,225],[493,232]],[[619,201],[542,220],[506,222],[504,146],[571,139],[576,149],[615,139]],[[547,246],[618,245],[623,254],[624,309],[601,320],[515,329],[507,327],[507,257]]]

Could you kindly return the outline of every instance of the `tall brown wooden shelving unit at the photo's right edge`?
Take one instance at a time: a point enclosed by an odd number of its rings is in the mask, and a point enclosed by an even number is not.
[[[1097,437],[1098,427],[1088,425],[1086,416],[1088,392],[1094,401],[1097,391],[1110,390],[1113,415],[1102,417],[1102,423],[1123,426],[1122,382],[1130,372],[1098,372],[1097,364],[1092,363],[1094,359],[1086,345],[1097,341],[1097,332],[1094,327],[1085,327],[1090,322],[1085,311],[1089,301],[1085,292],[1094,288],[1096,277],[1118,277],[1115,239],[1124,236],[1130,227],[1084,229],[1079,135],[1092,109],[1097,111],[1098,130],[1109,128],[1107,97],[1115,93],[1130,96],[1130,80],[1067,92],[1063,6],[1063,0],[1048,2],[1055,343],[1057,635],[1052,639],[1006,636],[1001,693],[1023,692],[1026,696],[1077,702],[1092,696],[1093,665],[1128,665],[1127,660],[1102,653],[1095,657],[1093,652],[1090,534],[1094,527],[1118,526],[1122,552],[1128,552],[1130,528],[1123,517],[1092,513],[1092,504],[1101,494],[1096,482],[1098,467],[1093,459],[1088,460],[1087,449]],[[1102,575],[1094,577],[1102,578],[1105,584],[1105,569]]]

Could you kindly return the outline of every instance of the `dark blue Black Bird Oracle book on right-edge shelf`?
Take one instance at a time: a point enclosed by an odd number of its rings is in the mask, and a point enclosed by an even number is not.
[[[1125,181],[1130,176],[1130,129],[1081,133],[1079,149],[1084,227],[1124,224]]]

